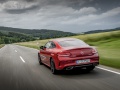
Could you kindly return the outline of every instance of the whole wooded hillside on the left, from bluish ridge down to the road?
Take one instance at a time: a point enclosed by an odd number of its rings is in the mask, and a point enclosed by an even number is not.
[[[47,29],[19,29],[0,27],[0,44],[33,41],[36,39],[50,39],[76,35],[70,32],[47,30]]]

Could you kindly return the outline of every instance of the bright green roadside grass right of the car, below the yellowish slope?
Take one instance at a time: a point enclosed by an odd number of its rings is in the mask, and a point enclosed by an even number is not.
[[[100,55],[100,64],[120,69],[120,38],[95,43]]]

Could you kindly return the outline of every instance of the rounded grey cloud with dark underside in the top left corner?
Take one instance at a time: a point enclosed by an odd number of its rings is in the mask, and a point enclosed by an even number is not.
[[[0,8],[1,8],[1,11],[3,10],[11,14],[25,13],[29,10],[35,10],[39,8],[38,3],[36,2],[33,3],[31,1],[33,0],[26,0],[26,2],[10,0],[10,1],[0,4]]]

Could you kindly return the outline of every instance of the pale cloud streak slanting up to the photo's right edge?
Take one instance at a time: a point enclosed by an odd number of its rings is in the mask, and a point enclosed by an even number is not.
[[[88,14],[88,15],[84,15],[75,19],[70,19],[67,21],[63,21],[63,24],[78,24],[78,25],[83,25],[83,24],[87,24],[87,23],[91,23],[95,20],[103,20],[106,18],[110,18],[112,16],[116,16],[120,14],[120,7],[114,8],[112,10],[109,10],[107,12],[104,12],[102,14]]]

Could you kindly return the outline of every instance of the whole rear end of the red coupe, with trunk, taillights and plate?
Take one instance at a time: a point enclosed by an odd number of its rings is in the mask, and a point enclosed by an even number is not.
[[[71,70],[77,67],[95,67],[99,64],[98,52],[86,43],[82,46],[63,46],[62,51],[57,54],[57,58],[59,63],[56,68],[59,70]]]

